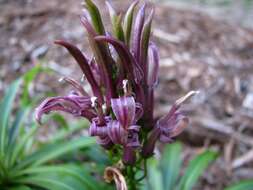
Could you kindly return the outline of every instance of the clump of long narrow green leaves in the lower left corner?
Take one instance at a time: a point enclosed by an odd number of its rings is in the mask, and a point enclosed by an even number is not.
[[[0,104],[0,189],[5,190],[96,190],[104,186],[91,176],[91,171],[79,164],[57,164],[63,155],[70,155],[93,146],[95,139],[80,137],[66,141],[70,134],[80,130],[80,125],[67,127],[64,118],[56,121],[65,125],[59,134],[42,146],[38,146],[38,127],[31,120],[31,105],[28,101],[29,84],[39,72],[29,71],[15,80],[8,88]],[[20,90],[22,85],[23,90]],[[15,99],[21,95],[20,106]],[[15,102],[15,103],[14,103]],[[12,111],[12,107],[15,109]],[[53,118],[54,119],[54,118]],[[82,123],[87,125],[87,123]],[[71,157],[71,156],[68,156]],[[49,164],[50,163],[50,164]]]

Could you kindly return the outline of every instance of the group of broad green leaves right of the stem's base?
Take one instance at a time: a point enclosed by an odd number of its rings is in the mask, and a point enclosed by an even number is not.
[[[201,174],[217,157],[215,152],[205,151],[193,158],[183,176],[180,176],[182,145],[174,143],[165,147],[160,160],[148,160],[147,190],[191,190]]]

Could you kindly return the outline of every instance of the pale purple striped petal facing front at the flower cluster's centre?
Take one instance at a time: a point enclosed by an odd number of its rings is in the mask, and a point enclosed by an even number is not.
[[[127,129],[128,126],[135,121],[136,103],[132,96],[120,97],[111,100],[112,110],[123,128]]]

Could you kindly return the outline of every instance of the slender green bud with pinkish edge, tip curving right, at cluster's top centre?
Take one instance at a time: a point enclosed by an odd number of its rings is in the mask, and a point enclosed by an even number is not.
[[[137,3],[138,3],[138,1],[134,1],[130,5],[130,7],[128,8],[126,15],[124,17],[123,28],[124,28],[124,33],[125,33],[125,41],[126,41],[126,44],[128,47],[130,45],[130,40],[131,40],[134,8],[136,7]]]

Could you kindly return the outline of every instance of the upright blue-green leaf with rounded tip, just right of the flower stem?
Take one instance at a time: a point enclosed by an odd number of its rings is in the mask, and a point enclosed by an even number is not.
[[[173,189],[176,186],[182,164],[182,160],[180,158],[181,151],[181,143],[173,143],[165,147],[160,162],[164,189]]]

